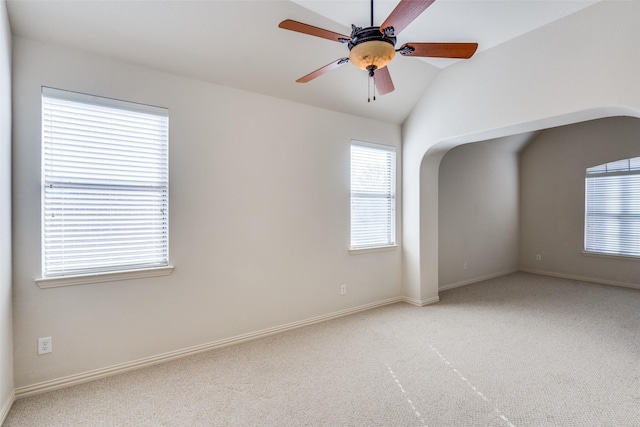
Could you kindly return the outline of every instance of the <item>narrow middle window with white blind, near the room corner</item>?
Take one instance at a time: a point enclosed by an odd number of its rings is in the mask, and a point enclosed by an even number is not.
[[[395,148],[352,142],[351,249],[395,245],[395,223]]]

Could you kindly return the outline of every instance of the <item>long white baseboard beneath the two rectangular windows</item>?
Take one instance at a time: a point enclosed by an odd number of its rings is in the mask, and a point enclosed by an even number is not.
[[[196,353],[202,353],[204,351],[213,350],[216,348],[226,347],[232,344],[239,344],[242,342],[251,341],[258,338],[263,338],[269,335],[277,334],[279,332],[285,332],[292,329],[301,328],[303,326],[313,325],[315,323],[337,319],[339,317],[347,316],[349,314],[371,310],[373,308],[382,307],[385,305],[394,304],[402,301],[404,301],[404,299],[401,297],[389,298],[386,300],[365,304],[358,307],[349,308],[346,310],[336,311],[334,313],[329,313],[322,316],[312,317],[310,319],[301,320],[299,322],[287,323],[285,325],[276,326],[273,328],[262,329],[260,331],[251,332],[248,334],[242,334],[235,337],[213,341],[206,344],[196,345],[193,347],[184,348],[182,350],[170,351],[168,353],[159,354],[157,356],[151,356],[143,359],[134,360],[132,362],[121,363],[121,364],[109,366],[106,368],[81,372],[79,374],[69,375],[62,378],[56,378],[50,381],[43,381],[37,384],[32,384],[29,386],[19,387],[15,389],[15,393],[13,397],[14,399],[20,399],[22,397],[32,396],[34,394],[40,394],[40,393],[45,393],[52,390],[70,387],[73,385],[94,381],[94,380],[108,377],[111,375],[132,371],[134,369],[140,369],[147,366],[156,365],[158,363],[168,362],[170,360],[191,356]],[[13,401],[11,403],[13,403]],[[9,407],[11,407],[11,405],[9,405]]]

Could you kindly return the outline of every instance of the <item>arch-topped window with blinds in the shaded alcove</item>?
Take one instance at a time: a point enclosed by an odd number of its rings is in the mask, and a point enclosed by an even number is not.
[[[585,252],[640,257],[640,157],[587,168]]]

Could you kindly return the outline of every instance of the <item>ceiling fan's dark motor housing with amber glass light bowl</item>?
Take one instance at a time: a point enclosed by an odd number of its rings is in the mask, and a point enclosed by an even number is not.
[[[352,26],[348,46],[351,63],[370,72],[385,67],[396,54],[396,38],[380,32],[380,27]]]

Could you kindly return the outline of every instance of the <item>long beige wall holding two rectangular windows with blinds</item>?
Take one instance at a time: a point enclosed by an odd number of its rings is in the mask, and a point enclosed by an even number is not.
[[[400,150],[399,126],[19,37],[13,49],[17,391],[399,299],[400,250],[348,251],[350,140]],[[169,109],[172,275],[34,283],[42,85]],[[54,351],[38,356],[43,336]]]

